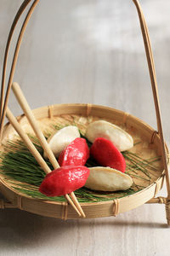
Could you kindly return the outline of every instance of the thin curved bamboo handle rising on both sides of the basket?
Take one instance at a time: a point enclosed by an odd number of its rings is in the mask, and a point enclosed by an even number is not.
[[[14,28],[15,28],[16,24],[18,23],[20,16],[26,9],[26,6],[30,2],[31,2],[31,0],[25,0],[22,3],[17,15],[14,18],[13,25],[11,26],[11,30],[8,35],[8,42],[7,42],[5,55],[4,55],[4,61],[3,61],[3,79],[2,79],[1,102],[0,102],[0,142],[2,139],[2,135],[3,135],[3,124],[4,124],[4,118],[5,118],[6,110],[7,110],[8,96],[9,96],[9,92],[10,92],[13,78],[14,78],[14,69],[16,66],[16,61],[18,58],[19,50],[20,50],[20,43],[23,38],[24,32],[26,30],[26,25],[27,25],[28,21],[30,20],[31,14],[32,14],[33,10],[35,9],[35,7],[37,6],[37,3],[39,2],[39,0],[34,0],[34,2],[31,4],[31,8],[29,9],[29,11],[26,15],[26,19],[24,20],[23,25],[20,29],[20,35],[19,35],[16,47],[14,50],[14,58],[13,58],[12,66],[11,66],[10,73],[9,73],[7,92],[6,92],[5,100],[3,102],[6,66],[7,66],[7,59],[8,59],[8,49],[10,46],[11,38],[13,36]],[[133,3],[135,4],[136,9],[138,11],[140,27],[141,27],[141,31],[142,31],[142,35],[143,35],[143,40],[144,40],[144,49],[145,49],[146,58],[147,58],[147,62],[148,62],[148,67],[149,67],[149,72],[150,72],[150,82],[151,82],[152,93],[153,93],[154,103],[155,103],[155,108],[156,108],[157,130],[158,130],[158,134],[160,136],[162,161],[163,161],[163,166],[164,166],[165,174],[166,174],[167,199],[170,200],[170,181],[169,181],[168,168],[167,168],[167,155],[166,155],[162,125],[161,125],[161,111],[160,111],[157,82],[156,82],[156,69],[155,69],[153,54],[152,54],[152,50],[151,50],[151,46],[150,46],[150,36],[149,36],[148,28],[147,28],[146,22],[144,20],[144,14],[140,7],[139,1],[133,0]]]

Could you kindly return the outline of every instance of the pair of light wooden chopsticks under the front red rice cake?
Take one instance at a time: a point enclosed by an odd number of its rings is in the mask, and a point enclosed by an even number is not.
[[[16,96],[18,102],[20,103],[20,107],[23,109],[24,113],[26,114],[26,118],[29,120],[29,123],[30,123],[33,131],[36,133],[37,138],[39,139],[43,150],[48,155],[48,159],[50,160],[51,164],[54,166],[54,169],[59,168],[59,163],[56,160],[56,158],[54,157],[54,154],[53,154],[51,148],[49,148],[48,142],[47,142],[46,138],[44,137],[41,129],[37,125],[37,120],[35,119],[32,111],[31,111],[31,108],[29,107],[28,102],[26,101],[26,97],[23,95],[22,91],[20,90],[19,84],[17,84],[17,83],[12,84],[12,89],[14,91],[14,95]],[[43,160],[41,154],[39,154],[39,152],[37,151],[37,148],[33,145],[33,143],[31,143],[31,139],[26,135],[25,131],[21,128],[19,122],[17,121],[17,119],[15,119],[14,114],[9,110],[9,108],[7,108],[6,116],[9,120],[9,122],[11,123],[11,125],[13,125],[15,131],[17,131],[17,133],[20,135],[20,137],[22,138],[24,143],[26,143],[27,148],[31,151],[31,154],[35,157],[38,164],[42,167],[42,170],[44,172],[46,172],[47,174],[49,172],[51,172],[51,170],[49,169],[45,160]],[[82,211],[81,205],[77,201],[76,195],[73,192],[71,192],[70,195],[71,195],[71,198],[69,195],[65,195],[65,199],[77,211],[79,216],[82,216],[83,218],[85,218],[86,216],[85,216],[84,212]],[[72,199],[72,201],[71,201],[71,199]]]

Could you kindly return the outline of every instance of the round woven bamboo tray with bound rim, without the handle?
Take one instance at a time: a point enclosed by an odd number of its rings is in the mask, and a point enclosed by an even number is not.
[[[65,125],[72,123],[76,124],[83,131],[90,122],[96,119],[105,119],[113,124],[120,125],[124,130],[129,132],[133,136],[134,143],[140,142],[133,147],[133,152],[142,158],[150,159],[151,157],[161,155],[159,147],[160,137],[149,125],[144,124],[143,121],[130,114],[113,108],[89,104],[63,104],[37,108],[33,113],[39,120],[39,124],[44,131],[48,130],[52,124]],[[18,119],[20,119],[20,125],[22,125],[26,132],[32,132],[25,116],[21,116]],[[16,132],[12,125],[6,125],[3,132],[3,144],[6,144],[9,138],[12,139],[14,134]],[[118,196],[117,200],[113,201],[82,203],[82,209],[86,217],[99,218],[113,216],[119,212],[126,212],[139,207],[149,201],[161,189],[163,183],[164,168],[162,160],[156,162],[156,167],[157,172],[150,172],[150,185],[145,181],[140,181],[141,185],[146,188],[138,193],[122,198]],[[32,199],[14,190],[12,188],[13,183],[11,184],[10,180],[7,181],[3,175],[0,177],[2,179],[1,191],[3,195],[5,195],[8,201],[12,201],[16,207],[48,217],[77,218],[77,212],[71,206],[68,206],[67,203]]]

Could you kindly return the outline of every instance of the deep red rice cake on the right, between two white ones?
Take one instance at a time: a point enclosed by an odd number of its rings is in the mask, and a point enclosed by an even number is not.
[[[99,166],[109,166],[117,171],[125,172],[125,159],[110,140],[103,137],[96,138],[90,148],[90,154],[98,162]]]

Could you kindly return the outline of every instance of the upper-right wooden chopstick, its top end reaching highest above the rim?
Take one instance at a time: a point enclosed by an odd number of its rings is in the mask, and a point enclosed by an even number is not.
[[[47,142],[46,138],[44,137],[41,129],[37,125],[37,120],[35,119],[35,116],[33,115],[31,108],[30,108],[28,102],[26,101],[26,97],[24,96],[22,90],[20,89],[20,85],[17,83],[13,83],[12,90],[14,91],[14,96],[16,97],[17,101],[19,102],[20,107],[23,109],[24,113],[26,114],[26,118],[29,120],[29,123],[30,123],[33,131],[36,133],[37,138],[39,139],[43,150],[48,155],[48,159],[50,160],[51,164],[54,166],[54,169],[59,168],[59,163],[56,160],[56,158],[54,157],[54,153],[51,150],[51,148],[49,147],[48,142]],[[86,216],[82,210],[82,207],[81,207],[80,203],[77,201],[77,197],[73,192],[71,192],[71,199],[75,203],[79,212],[81,212],[82,217],[85,218]]]

